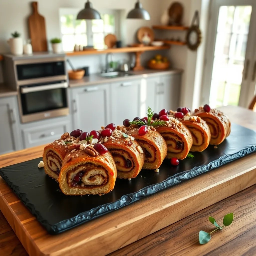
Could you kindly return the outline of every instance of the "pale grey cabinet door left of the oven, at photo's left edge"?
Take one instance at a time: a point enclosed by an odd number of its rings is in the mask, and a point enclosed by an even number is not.
[[[0,154],[22,149],[17,97],[0,98]]]

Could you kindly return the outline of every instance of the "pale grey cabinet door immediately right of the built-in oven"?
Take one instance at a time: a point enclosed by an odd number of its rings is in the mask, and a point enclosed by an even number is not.
[[[71,89],[71,94],[73,129],[90,133],[109,123],[109,84]]]

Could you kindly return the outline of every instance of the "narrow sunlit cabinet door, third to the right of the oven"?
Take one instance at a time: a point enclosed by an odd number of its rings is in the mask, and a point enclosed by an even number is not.
[[[159,77],[143,78],[140,86],[140,117],[146,116],[147,108],[151,107],[152,111],[158,112],[156,106],[156,93],[159,86]]]

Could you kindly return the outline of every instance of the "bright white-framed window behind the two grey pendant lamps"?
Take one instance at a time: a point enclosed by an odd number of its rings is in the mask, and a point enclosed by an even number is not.
[[[96,49],[106,48],[104,37],[115,34],[119,37],[120,14],[116,10],[104,10],[102,20],[77,20],[80,9],[60,8],[60,30],[64,51],[73,51],[74,45],[94,46]]]

